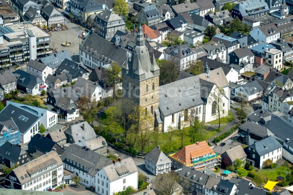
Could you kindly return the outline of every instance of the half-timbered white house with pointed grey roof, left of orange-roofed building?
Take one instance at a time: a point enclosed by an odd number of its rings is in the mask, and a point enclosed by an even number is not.
[[[171,160],[160,150],[160,146],[154,147],[144,158],[146,169],[153,175],[170,172],[171,163]]]

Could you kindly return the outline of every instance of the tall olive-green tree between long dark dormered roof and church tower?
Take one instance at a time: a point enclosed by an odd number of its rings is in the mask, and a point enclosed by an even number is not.
[[[118,1],[120,1],[120,0],[118,0]],[[116,2],[117,1],[115,1],[115,3]],[[123,2],[125,2],[125,1],[123,1]],[[116,85],[118,83],[120,83],[121,77],[122,77],[121,70],[122,70],[121,66],[119,66],[118,63],[112,62],[110,64],[110,67],[106,68],[105,72],[104,72],[104,78],[105,78],[107,85],[109,85],[113,89],[113,98],[114,98],[113,105],[115,105],[115,99],[116,99]]]

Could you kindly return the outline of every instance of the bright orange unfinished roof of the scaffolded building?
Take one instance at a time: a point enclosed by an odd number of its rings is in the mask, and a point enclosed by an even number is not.
[[[215,154],[215,152],[207,145],[206,141],[201,141],[185,146],[175,154],[171,154],[169,156],[183,165],[189,165],[192,158],[201,158],[205,154],[212,155]]]

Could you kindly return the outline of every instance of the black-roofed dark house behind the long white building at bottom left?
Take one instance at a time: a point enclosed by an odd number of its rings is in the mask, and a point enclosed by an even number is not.
[[[57,143],[41,134],[35,134],[30,138],[30,142],[28,143],[28,153],[33,154],[40,151],[46,154],[52,150],[56,151],[59,156],[63,153],[63,149]]]

